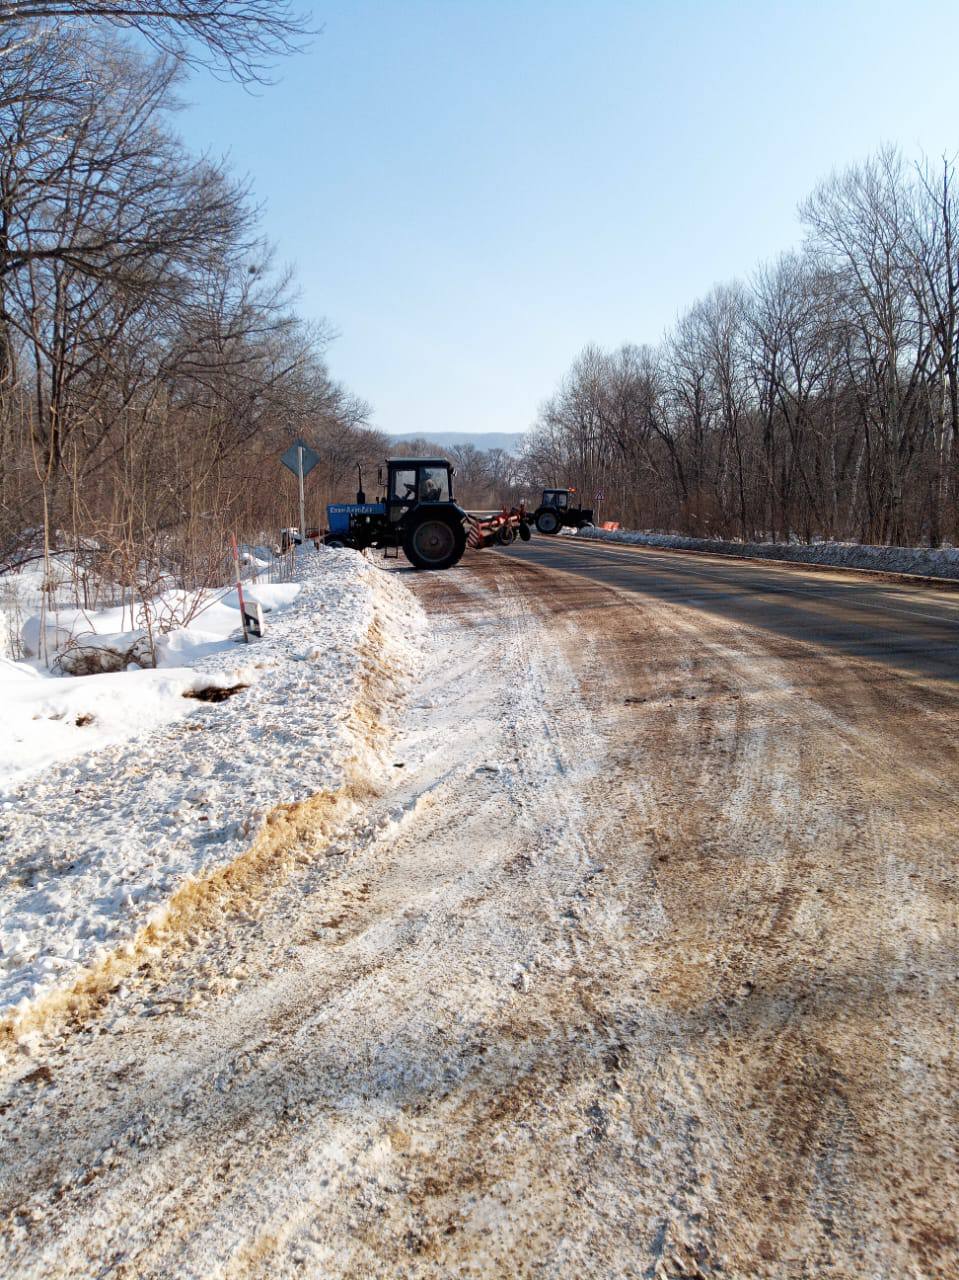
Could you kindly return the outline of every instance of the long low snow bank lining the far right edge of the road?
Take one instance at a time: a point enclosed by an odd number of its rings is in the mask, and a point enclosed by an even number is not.
[[[793,561],[796,564],[836,564],[871,568],[885,573],[918,573],[923,577],[959,579],[959,548],[864,547],[859,543],[736,543],[718,538],[684,538],[680,534],[634,532],[631,530],[583,529],[579,538],[599,538],[639,547],[673,547],[716,556],[750,559]]]

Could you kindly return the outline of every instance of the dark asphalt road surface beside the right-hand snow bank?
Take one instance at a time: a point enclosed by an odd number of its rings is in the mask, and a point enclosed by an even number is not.
[[[534,535],[501,554],[959,684],[959,591],[572,538]]]

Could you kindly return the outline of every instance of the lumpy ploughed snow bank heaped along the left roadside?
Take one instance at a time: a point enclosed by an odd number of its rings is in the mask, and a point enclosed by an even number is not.
[[[101,749],[50,764],[0,799],[0,1018],[69,989],[191,878],[248,849],[270,810],[337,791],[357,756],[366,763],[355,712],[371,669],[398,699],[425,618],[397,575],[350,550],[305,556],[296,586],[250,648],[224,646],[213,631],[174,636],[168,657],[188,655],[187,669],[50,680],[4,663],[12,705],[47,705],[64,732],[90,735],[97,722],[78,721],[93,696],[99,732],[109,740],[115,717],[127,736],[111,745],[91,736]],[[211,626],[215,614],[205,617]],[[46,704],[35,686],[51,690]],[[233,695],[182,696],[209,686]],[[389,703],[388,689],[379,700]],[[179,722],[156,731],[173,705]],[[136,739],[131,717],[142,721]]]

